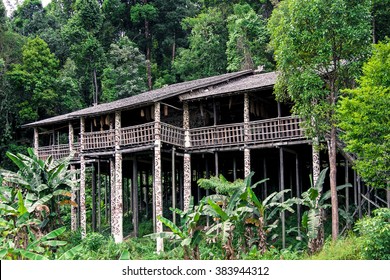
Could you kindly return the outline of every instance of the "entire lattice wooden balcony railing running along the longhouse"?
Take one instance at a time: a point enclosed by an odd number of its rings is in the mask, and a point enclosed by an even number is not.
[[[305,139],[304,131],[300,126],[301,119],[290,116],[273,118],[261,121],[217,125],[193,128],[189,130],[189,149],[205,149],[213,147],[254,146],[258,144],[275,143],[281,141],[296,141]],[[177,147],[184,147],[185,130],[160,123],[160,139],[163,143]],[[139,147],[153,144],[155,140],[155,122],[124,127],[120,129],[120,147]],[[87,132],[84,134],[84,150],[105,150],[115,147],[115,130]],[[80,145],[74,145],[75,156],[78,158]],[[39,148],[41,158],[53,155],[59,159],[69,155],[69,145],[47,146]]]

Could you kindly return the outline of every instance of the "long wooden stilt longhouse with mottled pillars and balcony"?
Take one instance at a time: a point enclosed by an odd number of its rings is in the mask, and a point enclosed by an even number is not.
[[[196,184],[201,177],[223,174],[234,180],[253,170],[255,180],[270,178],[258,190],[263,197],[284,188],[299,196],[307,189],[311,142],[299,117],[290,114],[289,104],[275,101],[275,80],[275,72],[229,73],[25,127],[34,129],[34,148],[40,158],[73,154],[71,168],[80,169],[80,188],[73,192],[79,207],[72,208],[72,229],[80,227],[85,235],[86,212],[92,210],[88,223],[98,230],[104,213],[115,241],[121,242],[123,219],[129,217],[135,235],[140,215],[152,217],[154,231],[161,232],[156,216],[175,219],[169,207],[186,209],[191,197],[197,202],[207,194]],[[345,166],[348,180],[352,172],[348,175]],[[86,181],[87,172],[92,181]],[[86,193],[93,198],[92,209],[86,209]],[[346,205],[353,197],[360,203],[356,189],[351,197]],[[161,249],[158,241],[157,250]]]

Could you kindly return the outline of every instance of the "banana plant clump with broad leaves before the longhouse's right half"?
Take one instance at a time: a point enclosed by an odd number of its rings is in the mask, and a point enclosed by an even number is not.
[[[229,259],[237,255],[233,246],[234,234],[245,237],[237,238],[241,240],[240,250],[246,250],[257,243],[260,252],[264,253],[267,249],[267,237],[277,226],[275,214],[285,210],[294,212],[291,206],[296,203],[295,199],[280,202],[289,190],[274,192],[261,201],[253,189],[267,179],[252,185],[253,175],[253,172],[250,173],[238,187],[237,184],[232,184],[236,187],[231,196],[213,195],[207,198],[204,212],[213,217],[215,223],[206,232],[206,236],[212,236],[212,239],[221,236],[221,243],[226,251],[225,257]],[[202,184],[208,184],[207,179],[202,180]],[[275,221],[271,223],[272,220]]]

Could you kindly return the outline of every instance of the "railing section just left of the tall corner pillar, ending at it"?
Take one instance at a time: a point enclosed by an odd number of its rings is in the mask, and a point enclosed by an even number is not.
[[[154,141],[154,122],[121,129],[121,146],[139,146]]]

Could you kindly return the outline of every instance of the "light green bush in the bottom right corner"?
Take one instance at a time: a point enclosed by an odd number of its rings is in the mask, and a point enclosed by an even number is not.
[[[362,239],[362,254],[365,259],[390,260],[390,209],[379,208],[373,214],[356,222],[355,229]]]

